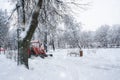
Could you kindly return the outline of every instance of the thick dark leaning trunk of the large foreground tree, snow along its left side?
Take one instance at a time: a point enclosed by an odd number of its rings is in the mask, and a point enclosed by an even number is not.
[[[28,65],[28,48],[30,45],[30,41],[31,38],[33,36],[33,33],[38,25],[38,17],[39,17],[39,12],[42,6],[42,0],[38,0],[38,3],[36,5],[36,8],[33,11],[33,14],[31,16],[31,21],[29,24],[29,29],[26,30],[26,35],[23,37],[23,39],[21,41],[19,41],[20,43],[20,63],[24,64],[28,69],[29,69],[29,65]]]

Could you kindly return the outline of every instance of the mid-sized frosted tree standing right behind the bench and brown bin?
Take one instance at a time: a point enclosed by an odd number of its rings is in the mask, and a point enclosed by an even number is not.
[[[65,40],[70,45],[70,47],[79,47],[79,38],[81,32],[81,24],[76,22],[73,17],[65,15]]]

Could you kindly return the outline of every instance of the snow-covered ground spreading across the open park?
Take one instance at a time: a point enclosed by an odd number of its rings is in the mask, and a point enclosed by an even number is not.
[[[75,49],[49,51],[54,57],[29,59],[30,69],[0,55],[0,80],[120,80],[120,49],[85,49],[83,57],[67,56]]]

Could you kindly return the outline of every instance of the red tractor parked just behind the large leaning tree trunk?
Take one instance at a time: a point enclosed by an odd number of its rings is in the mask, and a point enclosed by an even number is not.
[[[31,55],[35,55],[35,56],[40,56],[41,58],[53,56],[52,54],[46,54],[44,47],[38,40],[31,41],[30,48],[28,49],[28,54],[29,57],[31,57]]]

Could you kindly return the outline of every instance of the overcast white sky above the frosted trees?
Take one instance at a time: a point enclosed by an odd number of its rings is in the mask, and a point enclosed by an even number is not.
[[[120,0],[90,0],[92,6],[87,11],[77,14],[84,30],[96,30],[104,24],[120,24]],[[11,9],[7,0],[0,0],[0,8]]]

